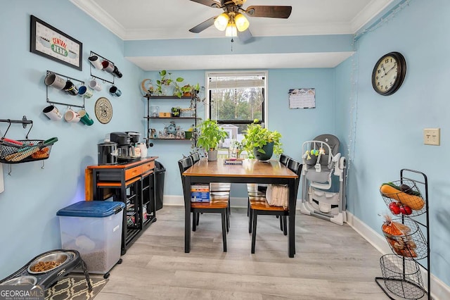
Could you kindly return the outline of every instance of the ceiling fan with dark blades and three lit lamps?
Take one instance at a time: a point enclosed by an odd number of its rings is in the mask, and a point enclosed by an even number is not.
[[[250,23],[248,22],[246,15],[250,17],[264,17],[264,18],[289,18],[292,6],[248,6],[247,9],[243,8],[243,4],[246,0],[220,0],[220,2],[214,0],[191,0],[205,6],[212,8],[221,8],[224,13],[209,18],[204,22],[192,27],[189,31],[199,33],[205,30],[207,27],[214,25],[218,30],[225,31],[226,37],[238,36],[240,41],[245,42],[252,38],[252,34],[248,29]]]

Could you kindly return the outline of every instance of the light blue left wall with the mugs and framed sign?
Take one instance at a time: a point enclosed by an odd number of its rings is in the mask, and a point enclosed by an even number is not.
[[[49,10],[51,8],[51,10]],[[30,15],[44,20],[83,43],[83,70],[51,61],[30,52]],[[89,18],[69,1],[23,0],[2,1],[0,10],[0,65],[4,76],[0,82],[0,119],[21,120],[26,115],[33,120],[30,139],[58,137],[51,156],[41,168],[40,162],[4,164],[5,191],[0,194],[0,277],[18,270],[37,254],[60,248],[60,233],[56,212],[76,201],[84,200],[84,169],[97,163],[97,144],[105,134],[113,131],[143,133],[143,101],[139,92],[143,71],[124,59],[123,42]],[[96,92],[86,99],[86,111],[94,119],[88,127],[81,123],[54,122],[46,118],[42,109],[46,103],[46,70],[74,77],[90,79],[87,61],[94,51],[115,62],[123,73],[116,79],[122,90],[120,98],[106,92]],[[112,76],[105,74],[105,79]],[[57,94],[57,93],[53,93]],[[58,100],[70,96],[59,93]],[[94,104],[106,96],[113,104],[113,120],[102,125],[96,120]],[[72,103],[81,99],[72,96]],[[56,97],[55,97],[56,99]],[[65,106],[58,106],[65,112]],[[0,123],[1,136],[8,124]],[[27,130],[12,125],[6,137],[25,139]]]

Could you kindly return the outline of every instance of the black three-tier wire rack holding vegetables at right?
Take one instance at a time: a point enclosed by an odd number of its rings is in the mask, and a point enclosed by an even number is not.
[[[418,177],[418,179],[411,177]],[[385,254],[380,258],[383,277],[375,277],[375,282],[390,299],[397,299],[394,296],[404,299],[432,299],[428,178],[417,170],[401,169],[400,180],[390,182],[390,185],[401,187],[401,189],[399,188],[398,192],[387,193],[383,192],[382,186],[381,196],[388,207],[392,202],[398,201],[399,204],[407,203],[414,208],[411,211],[402,211],[399,213],[401,218],[397,219],[397,222],[406,225],[411,231],[401,236],[383,232],[394,253]],[[419,186],[423,187],[424,193],[420,192]],[[425,223],[415,219],[418,215],[425,215]],[[425,259],[426,265],[421,263]],[[420,266],[427,270],[428,291],[423,287]]]

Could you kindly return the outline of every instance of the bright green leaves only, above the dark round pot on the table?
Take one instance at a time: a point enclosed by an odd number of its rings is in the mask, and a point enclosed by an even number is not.
[[[283,153],[281,146],[281,133],[274,130],[268,130],[258,124],[259,120],[253,120],[253,123],[248,125],[247,130],[245,130],[245,135],[243,139],[243,144],[245,145],[245,150],[248,155],[253,156],[253,149],[257,148],[257,151],[265,154],[266,152],[262,149],[263,146],[274,142],[274,154],[279,155]]]

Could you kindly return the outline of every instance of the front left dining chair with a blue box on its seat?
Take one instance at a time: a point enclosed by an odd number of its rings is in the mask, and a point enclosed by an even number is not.
[[[181,183],[183,186],[183,194],[184,194],[184,180],[183,173],[188,168],[191,168],[193,165],[193,159],[191,156],[181,158],[178,161],[178,166],[181,175]],[[210,193],[210,201],[209,202],[191,202],[191,213],[193,215],[192,218],[192,230],[195,231],[198,225],[198,216],[200,213],[220,213],[221,214],[221,224],[222,224],[222,241],[224,244],[224,252],[226,252],[226,232],[229,229],[228,225],[228,207],[229,207],[229,197],[221,196]]]

